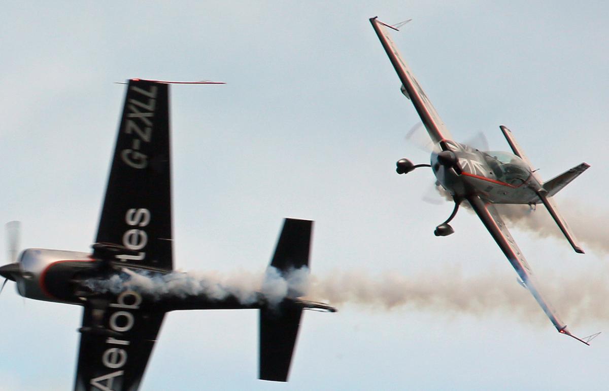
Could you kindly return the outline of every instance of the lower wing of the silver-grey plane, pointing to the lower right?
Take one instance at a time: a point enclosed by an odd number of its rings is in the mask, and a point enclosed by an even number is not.
[[[499,216],[495,206],[483,201],[479,196],[470,196],[467,200],[470,202],[471,207],[480,220],[482,220],[482,223],[484,223],[484,226],[487,227],[488,232],[493,236],[493,239],[495,239],[499,248],[501,248],[501,251],[505,254],[505,257],[510,261],[513,268],[516,269],[524,286],[526,286],[533,297],[535,297],[535,300],[537,300],[537,303],[539,303],[541,309],[546,313],[546,316],[550,319],[556,330],[561,334],[566,334],[577,339],[577,341],[590,345],[589,342],[596,335],[580,339],[571,334],[567,329],[567,326],[558,317],[554,308],[552,308],[552,305],[541,295],[541,292],[537,287],[537,282],[533,278],[529,263],[527,263],[523,253],[518,248],[518,245],[516,245],[516,241],[512,238],[512,235],[510,235],[509,230],[505,226],[501,216]]]

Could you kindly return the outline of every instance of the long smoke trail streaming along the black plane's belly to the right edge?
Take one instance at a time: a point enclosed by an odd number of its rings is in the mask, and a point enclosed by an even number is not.
[[[539,305],[516,279],[485,273],[463,277],[458,269],[403,275],[396,272],[373,274],[364,269],[333,271],[324,277],[309,277],[308,269],[294,270],[282,277],[275,268],[264,273],[238,272],[222,276],[216,272],[172,272],[159,275],[128,269],[108,280],[91,279],[86,285],[95,291],[114,294],[133,289],[160,299],[162,297],[205,296],[222,300],[229,296],[252,305],[262,295],[270,305],[286,297],[306,296],[332,305],[360,305],[374,310],[397,308],[437,311],[442,314],[488,316],[507,314],[521,320],[545,325]],[[541,291],[569,324],[583,319],[609,320],[609,275],[544,279]]]

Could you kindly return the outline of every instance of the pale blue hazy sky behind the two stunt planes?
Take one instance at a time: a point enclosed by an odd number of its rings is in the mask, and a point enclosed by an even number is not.
[[[21,247],[88,251],[128,78],[172,86],[174,265],[264,271],[284,217],[315,220],[311,271],[335,314],[306,312],[290,381],[259,381],[258,313],[166,316],[143,390],[607,389],[609,125],[602,2],[14,2],[0,13],[0,221]],[[590,170],[512,234],[572,333],[558,334],[477,217],[423,201],[417,114],[368,18],[389,24],[457,140],[509,150],[541,178]],[[531,223],[531,222],[536,223]],[[537,223],[539,222],[540,223]],[[323,288],[323,289],[322,289]],[[81,309],[0,296],[0,390],[71,389]]]

